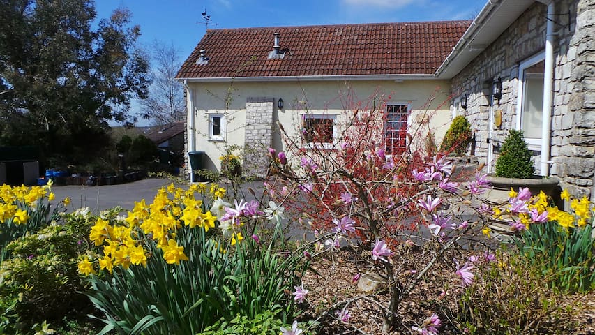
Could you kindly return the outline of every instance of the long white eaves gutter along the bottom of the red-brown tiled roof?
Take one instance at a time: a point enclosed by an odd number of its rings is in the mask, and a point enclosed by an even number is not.
[[[435,75],[293,75],[286,77],[193,77],[176,78],[179,82],[328,82],[362,80],[440,80]]]

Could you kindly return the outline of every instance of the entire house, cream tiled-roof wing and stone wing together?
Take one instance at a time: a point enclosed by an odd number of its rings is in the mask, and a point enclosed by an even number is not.
[[[409,127],[429,121],[437,142],[465,115],[486,172],[508,130],[523,130],[539,174],[595,200],[594,36],[594,0],[490,0],[473,22],[209,30],[178,74],[187,149],[218,169],[225,144],[283,149],[274,121],[335,125],[345,96],[381,92],[386,114]],[[427,120],[435,92],[450,110],[434,103]],[[266,159],[259,152],[248,161]]]

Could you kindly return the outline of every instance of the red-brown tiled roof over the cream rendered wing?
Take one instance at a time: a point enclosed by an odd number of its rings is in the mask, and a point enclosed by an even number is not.
[[[212,29],[178,78],[432,75],[471,21]],[[273,33],[283,59],[269,59]],[[197,65],[200,50],[209,61]]]

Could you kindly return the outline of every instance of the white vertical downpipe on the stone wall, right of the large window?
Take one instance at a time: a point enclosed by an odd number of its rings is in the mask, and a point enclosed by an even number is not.
[[[548,23],[545,26],[545,68],[543,70],[543,107],[541,119],[541,167],[539,173],[550,174],[550,145],[552,132],[552,87],[554,82],[554,1],[548,3]]]

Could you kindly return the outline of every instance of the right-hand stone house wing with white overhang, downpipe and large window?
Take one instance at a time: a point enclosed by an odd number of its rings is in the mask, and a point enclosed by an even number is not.
[[[522,130],[538,174],[595,200],[595,1],[489,1],[435,76],[450,80],[486,172]]]

